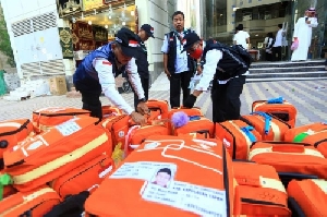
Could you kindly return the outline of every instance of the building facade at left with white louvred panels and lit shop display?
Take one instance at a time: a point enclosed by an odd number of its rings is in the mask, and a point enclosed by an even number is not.
[[[148,23],[152,79],[162,71],[160,48],[175,0],[1,0],[21,80],[66,75],[90,50],[113,39],[122,26],[137,33]],[[169,14],[170,13],[170,14]]]

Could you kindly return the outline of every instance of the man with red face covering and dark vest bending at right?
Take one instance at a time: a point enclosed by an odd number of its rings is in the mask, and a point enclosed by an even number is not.
[[[213,81],[213,121],[223,122],[240,118],[240,95],[245,84],[245,74],[251,63],[246,62],[241,53],[233,52],[229,47],[219,44],[208,44],[203,50],[203,43],[195,33],[184,37],[184,49],[194,59],[203,56],[202,77],[195,86],[194,92],[187,97],[184,107],[192,108],[203,92],[209,87]],[[241,49],[243,49],[241,47]],[[244,49],[243,51],[247,53]]]

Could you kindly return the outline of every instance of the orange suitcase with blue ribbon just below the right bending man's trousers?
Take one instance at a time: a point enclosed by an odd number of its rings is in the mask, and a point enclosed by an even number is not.
[[[216,123],[216,138],[222,141],[233,159],[247,159],[250,146],[261,141],[262,135],[246,122],[241,120]]]

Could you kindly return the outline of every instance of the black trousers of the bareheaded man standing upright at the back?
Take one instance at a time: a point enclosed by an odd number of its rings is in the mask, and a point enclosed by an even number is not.
[[[193,76],[192,71],[173,73],[170,76],[170,106],[171,108],[181,106],[181,88],[183,92],[183,104],[190,96],[190,82]]]

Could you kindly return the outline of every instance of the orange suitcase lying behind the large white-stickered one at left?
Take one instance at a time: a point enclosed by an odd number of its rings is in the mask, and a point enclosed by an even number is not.
[[[89,116],[90,111],[78,108],[49,107],[33,111],[33,123],[39,133],[80,116]]]

